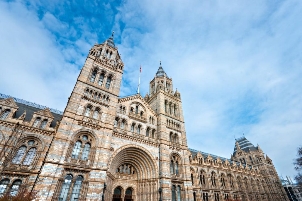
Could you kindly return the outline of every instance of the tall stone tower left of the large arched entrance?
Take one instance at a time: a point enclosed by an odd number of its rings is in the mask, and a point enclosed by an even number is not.
[[[100,199],[123,70],[113,34],[90,49],[40,175],[54,184],[37,187],[46,200],[67,199],[67,184],[82,185],[79,200]]]

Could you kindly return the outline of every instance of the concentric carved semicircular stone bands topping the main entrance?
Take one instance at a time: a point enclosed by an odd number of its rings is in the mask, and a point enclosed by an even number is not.
[[[125,145],[117,149],[110,157],[108,171],[115,174],[116,168],[127,162],[137,169],[138,179],[151,179],[158,177],[158,167],[153,155],[139,145]]]

